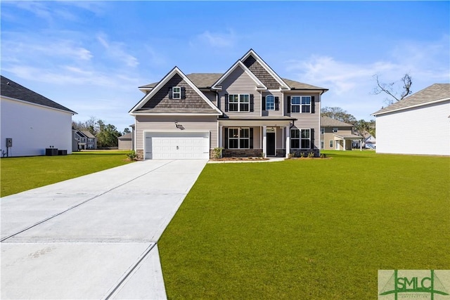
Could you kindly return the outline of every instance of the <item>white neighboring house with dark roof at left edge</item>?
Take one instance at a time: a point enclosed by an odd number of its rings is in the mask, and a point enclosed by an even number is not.
[[[1,76],[2,156],[45,155],[46,148],[72,153],[76,112]]]

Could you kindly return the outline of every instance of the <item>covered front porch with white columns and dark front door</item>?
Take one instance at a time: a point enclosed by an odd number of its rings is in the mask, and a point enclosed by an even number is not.
[[[290,117],[219,119],[218,145],[224,157],[288,157]]]

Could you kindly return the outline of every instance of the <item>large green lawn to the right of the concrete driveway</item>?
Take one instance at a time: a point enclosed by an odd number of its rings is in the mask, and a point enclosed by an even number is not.
[[[450,158],[207,164],[162,235],[169,299],[376,299],[380,269],[450,268]]]

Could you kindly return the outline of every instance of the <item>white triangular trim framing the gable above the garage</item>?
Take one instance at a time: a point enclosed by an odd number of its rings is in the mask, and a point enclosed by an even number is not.
[[[171,110],[170,108],[163,108],[160,110],[155,110],[155,109],[143,109],[143,106],[153,97],[155,96],[155,93],[157,93],[162,86],[164,86],[165,84],[167,84],[167,82],[172,79],[172,77],[179,75],[179,77],[181,77],[182,80],[184,80],[188,86],[190,86],[195,93],[198,94],[198,96],[200,96],[200,98],[202,98],[205,103],[210,107],[210,109],[207,110],[192,110],[192,109],[188,109],[185,110],[184,112],[174,112],[173,110]],[[169,73],[167,73],[167,75],[161,79],[160,82],[158,82],[158,84],[156,84],[153,89],[151,89],[150,93],[146,94],[146,96],[143,96],[143,98],[139,101],[139,103],[137,103],[136,105],[134,105],[133,108],[131,108],[131,110],[129,111],[130,115],[134,115],[134,114],[153,114],[153,113],[158,113],[160,115],[164,114],[164,115],[179,115],[180,113],[186,113],[186,114],[193,114],[193,113],[198,113],[198,114],[202,114],[202,115],[222,115],[221,110],[219,110],[219,108],[217,108],[216,105],[214,105],[214,103],[212,103],[210,101],[210,99],[208,99],[204,93],[202,93],[197,86],[195,86],[195,84],[193,84],[193,82],[191,81],[191,79],[188,79],[188,77],[186,77],[186,75],[181,72],[181,70],[179,70],[178,67],[174,67]]]

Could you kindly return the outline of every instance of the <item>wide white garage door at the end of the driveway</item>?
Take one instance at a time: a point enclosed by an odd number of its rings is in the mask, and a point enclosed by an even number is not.
[[[208,131],[150,132],[145,134],[145,159],[209,159]]]

